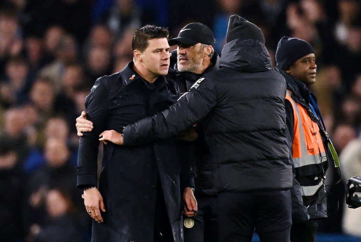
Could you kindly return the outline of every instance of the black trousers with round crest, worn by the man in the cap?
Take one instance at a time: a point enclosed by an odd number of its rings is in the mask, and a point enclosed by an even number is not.
[[[197,198],[198,210],[194,217],[187,217],[185,219],[193,219],[194,225],[192,228],[183,226],[184,242],[218,242],[217,230],[217,197],[201,197]]]

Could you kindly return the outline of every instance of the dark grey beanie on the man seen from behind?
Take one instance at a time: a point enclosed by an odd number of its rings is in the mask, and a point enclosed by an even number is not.
[[[265,43],[265,36],[261,29],[238,15],[229,17],[226,43],[235,39],[253,39],[261,41],[262,44]]]

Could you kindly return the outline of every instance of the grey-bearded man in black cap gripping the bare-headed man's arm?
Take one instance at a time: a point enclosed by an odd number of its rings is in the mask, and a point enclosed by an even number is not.
[[[214,35],[203,23],[187,24],[168,43],[178,46],[170,53],[170,67],[166,77],[178,84],[181,94],[187,92],[203,75],[218,69],[219,56],[213,49]],[[86,119],[85,112],[77,118],[76,126],[79,136],[82,136],[82,132],[91,130],[92,123]],[[181,192],[183,191],[183,199],[187,204],[183,215],[186,242],[217,241],[217,203],[210,172],[212,164],[201,127],[201,124],[197,124],[197,127],[183,131],[187,134],[186,140],[182,136],[183,139],[177,141],[182,161]],[[197,129],[197,133],[194,129]],[[197,216],[190,218],[195,213],[188,207],[194,206],[195,202]]]

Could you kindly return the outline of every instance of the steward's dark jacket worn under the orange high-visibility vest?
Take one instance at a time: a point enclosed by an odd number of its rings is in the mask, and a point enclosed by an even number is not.
[[[313,93],[310,93],[306,85],[299,80],[288,75],[287,72],[279,69],[275,69],[280,74],[284,76],[287,83],[287,90],[292,92],[291,98],[303,106],[308,113],[308,116],[311,120],[318,125],[319,132],[321,134],[323,146],[326,151],[326,157],[322,158],[322,163],[320,164],[308,164],[306,166],[293,168],[295,181],[291,189],[291,198],[292,198],[292,221],[299,222],[305,221],[308,218],[310,219],[319,219],[327,217],[327,201],[326,193],[324,187],[320,187],[318,191],[312,196],[302,196],[301,187],[309,185],[317,185],[319,181],[315,180],[315,177],[323,178],[326,174],[325,171],[328,167],[328,162],[333,160],[332,154],[328,148],[328,139],[329,136],[323,127],[321,121],[316,117],[310,107],[310,95],[316,100],[316,96]],[[290,132],[290,147],[293,144],[293,129],[294,129],[294,116],[292,104],[286,100],[286,124]],[[304,131],[306,132],[306,131]],[[310,131],[309,131],[310,132]],[[292,149],[291,149],[292,152]],[[292,155],[291,155],[292,157]],[[316,182],[316,183],[315,183]],[[307,208],[306,208],[307,207]]]

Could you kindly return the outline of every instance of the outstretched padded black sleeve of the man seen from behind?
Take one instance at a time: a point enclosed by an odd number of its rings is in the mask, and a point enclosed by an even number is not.
[[[210,77],[201,78],[168,109],[126,126],[122,144],[133,146],[174,136],[198,123],[216,104],[214,80]]]

